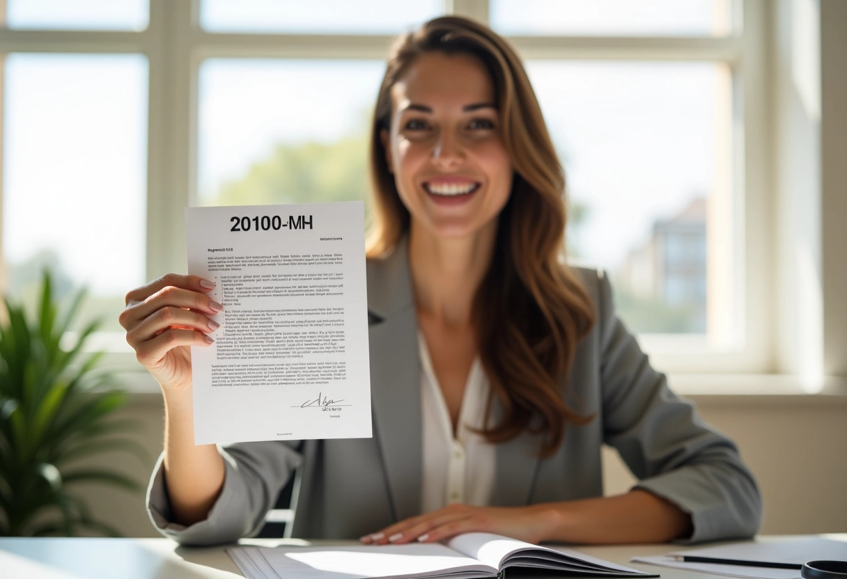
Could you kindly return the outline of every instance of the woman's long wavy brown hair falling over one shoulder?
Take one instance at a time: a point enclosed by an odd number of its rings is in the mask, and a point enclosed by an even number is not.
[[[391,87],[430,52],[468,54],[484,63],[514,168],[491,265],[473,304],[479,356],[503,410],[501,421],[486,420],[482,433],[491,443],[525,429],[543,433],[541,453],[551,455],[562,444],[566,422],[590,421],[567,405],[558,384],[570,373],[576,345],[594,323],[594,309],[564,262],[565,176],[538,101],[518,54],[484,25],[457,16],[437,18],[401,36],[392,48],[370,142],[374,215],[368,255],[390,251],[409,231],[409,212],[389,172],[380,131],[390,131]]]

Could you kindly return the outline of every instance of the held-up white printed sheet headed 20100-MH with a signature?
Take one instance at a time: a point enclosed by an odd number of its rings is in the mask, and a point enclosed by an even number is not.
[[[195,443],[369,438],[363,203],[190,207],[185,231],[224,306],[191,347]]]

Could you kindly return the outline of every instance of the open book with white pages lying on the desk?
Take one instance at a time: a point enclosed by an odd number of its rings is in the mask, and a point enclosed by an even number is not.
[[[548,549],[487,532],[468,532],[446,544],[243,546],[226,551],[248,579],[474,579],[497,576],[510,567],[583,576],[657,576],[570,549]]]

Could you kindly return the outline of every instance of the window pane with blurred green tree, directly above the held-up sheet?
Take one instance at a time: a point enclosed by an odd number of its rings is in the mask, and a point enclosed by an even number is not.
[[[198,202],[367,201],[368,119],[383,70],[378,60],[204,61]]]

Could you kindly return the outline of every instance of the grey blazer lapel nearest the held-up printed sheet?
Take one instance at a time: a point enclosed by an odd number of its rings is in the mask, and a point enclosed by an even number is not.
[[[420,511],[422,442],[418,323],[407,245],[368,262],[368,312],[374,435],[399,521]]]

